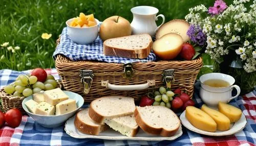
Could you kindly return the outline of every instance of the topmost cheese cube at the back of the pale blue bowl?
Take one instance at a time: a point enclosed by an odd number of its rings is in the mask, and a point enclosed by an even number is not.
[[[52,106],[69,99],[69,96],[65,94],[60,88],[47,90],[44,92],[45,102],[49,103]]]

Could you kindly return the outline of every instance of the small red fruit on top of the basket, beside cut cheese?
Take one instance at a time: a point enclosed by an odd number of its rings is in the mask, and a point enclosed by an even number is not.
[[[191,45],[189,43],[184,43],[182,45],[182,49],[180,52],[181,58],[183,58],[185,60],[191,60],[195,54],[196,54],[196,52],[195,52],[193,45]]]

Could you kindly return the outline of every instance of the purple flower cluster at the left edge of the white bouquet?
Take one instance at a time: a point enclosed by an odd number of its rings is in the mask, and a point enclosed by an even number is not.
[[[187,35],[192,42],[197,43],[198,45],[202,46],[206,42],[206,35],[199,26],[195,27],[194,25],[190,25],[187,30]]]

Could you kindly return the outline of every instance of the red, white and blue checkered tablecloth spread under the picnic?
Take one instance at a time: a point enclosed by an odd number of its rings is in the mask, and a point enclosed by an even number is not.
[[[55,69],[46,69],[56,79],[58,75]],[[0,70],[0,88],[13,82],[20,74],[27,71],[13,71],[8,69]],[[198,96],[199,84],[195,85],[196,107],[202,105]],[[0,129],[0,145],[255,145],[256,143],[256,90],[239,96],[230,102],[233,106],[239,107],[247,118],[246,127],[233,135],[213,137],[197,134],[182,127],[183,134],[173,141],[138,141],[138,140],[99,140],[99,139],[76,139],[64,131],[64,126],[58,128],[45,128],[29,117],[24,115],[22,123],[17,128],[3,127]]]

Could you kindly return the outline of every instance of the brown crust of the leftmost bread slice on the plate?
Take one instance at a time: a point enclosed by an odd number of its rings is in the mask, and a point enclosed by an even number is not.
[[[79,118],[78,113],[75,116],[74,125],[77,128],[77,130],[80,131],[81,133],[86,133],[86,134],[90,134],[90,135],[99,135],[99,133],[101,131],[106,130],[107,127],[105,125],[92,126],[92,125],[83,123],[82,120]]]

